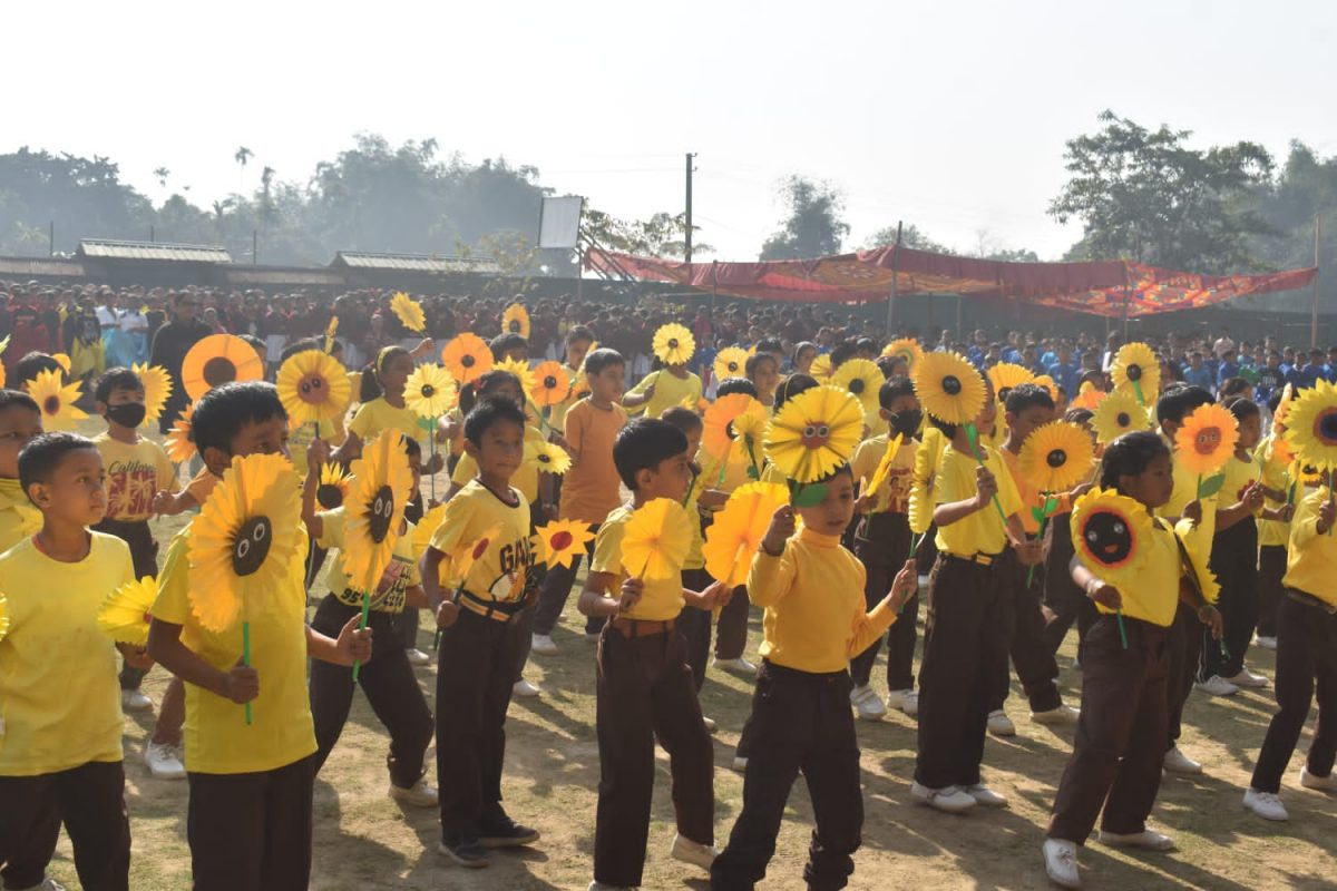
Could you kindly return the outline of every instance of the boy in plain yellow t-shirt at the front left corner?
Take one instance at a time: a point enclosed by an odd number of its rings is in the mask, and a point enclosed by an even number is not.
[[[128,888],[118,647],[98,629],[98,608],[134,580],[130,550],[87,529],[107,506],[102,457],[90,439],[36,437],[19,458],[19,477],[43,521],[0,557],[9,613],[0,639],[5,886],[48,887],[63,822],[83,887]],[[148,667],[142,652],[122,652]]]

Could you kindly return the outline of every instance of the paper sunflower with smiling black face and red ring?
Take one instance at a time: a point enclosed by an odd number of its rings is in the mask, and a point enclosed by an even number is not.
[[[1072,545],[1082,565],[1120,590],[1144,584],[1138,576],[1151,544],[1151,516],[1114,489],[1092,489],[1072,505]]]

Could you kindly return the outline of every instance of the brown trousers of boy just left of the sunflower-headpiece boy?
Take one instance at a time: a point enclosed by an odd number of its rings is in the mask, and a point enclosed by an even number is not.
[[[604,625],[595,668],[594,878],[636,887],[650,834],[655,740],[668,752],[678,834],[701,844],[715,840],[714,749],[701,720],[687,645],[677,629],[626,637]]]

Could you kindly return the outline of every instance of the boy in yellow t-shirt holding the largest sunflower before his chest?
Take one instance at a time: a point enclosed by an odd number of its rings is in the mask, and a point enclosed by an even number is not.
[[[215,477],[233,457],[285,454],[287,413],[271,383],[225,383],[195,403],[195,445]],[[294,488],[294,477],[283,477]],[[353,617],[337,639],[306,624],[305,553],[242,628],[199,625],[190,604],[190,526],[167,548],[148,652],[186,681],[191,875],[197,891],[305,888],[312,871],[316,733],[308,657],[338,665],[372,659],[372,631]],[[263,681],[263,688],[262,688]],[[263,689],[263,692],[262,692]],[[255,701],[253,723],[242,704]]]

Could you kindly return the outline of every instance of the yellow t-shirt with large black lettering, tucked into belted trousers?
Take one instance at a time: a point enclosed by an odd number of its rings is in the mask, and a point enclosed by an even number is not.
[[[489,532],[493,534],[483,553],[475,556],[464,589],[481,600],[519,600],[524,596],[528,568],[533,565],[529,502],[524,498],[515,506],[508,505],[477,480],[469,480],[445,502],[445,516],[432,536],[432,546],[451,556],[465,545],[481,542]]]

